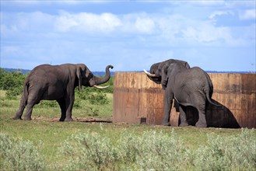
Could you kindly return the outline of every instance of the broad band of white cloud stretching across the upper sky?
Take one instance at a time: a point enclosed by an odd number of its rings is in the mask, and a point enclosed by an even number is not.
[[[251,11],[253,10],[244,12],[244,19],[250,18]],[[51,35],[54,38],[58,35],[61,37],[61,33],[96,34],[98,37],[111,34],[113,37],[117,37],[117,35],[118,37],[127,35],[141,37],[141,40],[147,41],[150,37],[146,37],[146,35],[149,35],[174,45],[198,43],[211,43],[211,45],[217,46],[220,44],[239,45],[239,42],[246,41],[243,40],[246,37],[234,38],[230,27],[215,26],[215,23],[212,23],[216,16],[228,14],[233,15],[230,11],[212,12],[208,21],[191,19],[188,16],[177,14],[167,16],[145,12],[124,15],[65,11],[59,12],[58,15],[43,12],[1,13],[1,28],[4,37],[10,35],[13,37],[24,33],[26,36],[33,35],[34,37],[44,35],[48,39],[51,38]]]

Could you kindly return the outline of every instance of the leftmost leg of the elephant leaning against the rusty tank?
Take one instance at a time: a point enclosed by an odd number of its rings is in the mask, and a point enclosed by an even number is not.
[[[170,126],[170,110],[173,104],[173,92],[170,92],[170,89],[165,90],[163,104],[164,104],[164,113],[163,113],[163,125]]]

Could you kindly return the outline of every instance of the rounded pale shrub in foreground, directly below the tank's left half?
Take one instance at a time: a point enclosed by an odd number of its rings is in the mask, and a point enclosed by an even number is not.
[[[142,136],[134,134],[121,138],[119,150],[129,169],[177,170],[186,163],[187,149],[176,134],[146,131]]]

